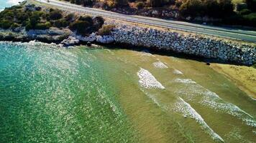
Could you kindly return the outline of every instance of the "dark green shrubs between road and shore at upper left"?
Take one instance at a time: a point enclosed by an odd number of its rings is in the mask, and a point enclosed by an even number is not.
[[[100,16],[76,16],[63,14],[58,9],[42,9],[35,5],[12,6],[0,12],[0,28],[17,30],[68,28],[81,35],[88,35],[101,29],[104,19]]]

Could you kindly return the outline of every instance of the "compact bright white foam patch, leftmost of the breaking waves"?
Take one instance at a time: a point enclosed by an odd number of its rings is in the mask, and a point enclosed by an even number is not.
[[[146,69],[140,68],[140,71],[137,72],[137,76],[140,78],[140,85],[146,89],[165,89],[150,71],[147,71]]]

